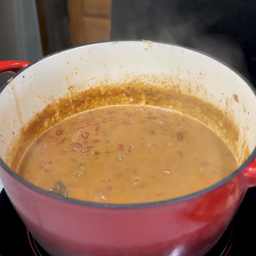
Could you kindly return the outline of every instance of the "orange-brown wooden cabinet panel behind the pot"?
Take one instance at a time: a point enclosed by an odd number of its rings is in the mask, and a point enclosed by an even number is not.
[[[72,45],[108,41],[111,0],[68,0]]]

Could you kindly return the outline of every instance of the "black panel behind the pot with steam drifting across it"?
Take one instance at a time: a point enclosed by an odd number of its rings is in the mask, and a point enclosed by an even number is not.
[[[113,0],[111,40],[149,39],[207,52],[256,86],[255,0]]]

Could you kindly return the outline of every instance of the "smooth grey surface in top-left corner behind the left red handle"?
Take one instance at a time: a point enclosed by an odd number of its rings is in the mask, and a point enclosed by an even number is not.
[[[0,60],[42,58],[35,0],[0,0]],[[12,75],[0,74],[0,86]]]

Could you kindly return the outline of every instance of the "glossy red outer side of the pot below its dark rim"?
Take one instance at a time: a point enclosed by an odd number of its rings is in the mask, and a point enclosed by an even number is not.
[[[177,203],[100,208],[53,198],[23,185],[2,167],[0,172],[20,218],[52,256],[204,255],[246,192],[240,172],[208,193]]]

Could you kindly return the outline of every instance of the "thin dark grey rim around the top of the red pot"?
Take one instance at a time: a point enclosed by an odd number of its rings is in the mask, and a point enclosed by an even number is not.
[[[146,40],[146,41],[150,41],[150,40]],[[75,47],[70,47],[58,52],[53,52],[49,55],[44,56],[43,58],[35,61],[34,63],[31,63],[30,65],[28,65],[25,68],[22,68],[19,72],[17,72],[12,80],[18,76],[20,73],[22,73],[22,71],[24,71],[25,69],[31,67],[32,65],[36,64],[37,62],[44,60],[48,57],[51,57],[52,55],[56,55],[60,52],[65,52],[65,51],[69,51],[71,49],[75,49],[75,48],[80,48],[80,47],[84,47],[87,45],[94,45],[94,44],[108,44],[108,43],[129,43],[129,42],[135,42],[135,43],[143,43],[145,42],[145,40],[112,40],[112,41],[106,41],[106,42],[97,42],[97,43],[92,43],[92,44],[85,44],[85,45],[80,45],[80,46],[75,46]],[[229,66],[227,63],[223,62],[222,60],[219,60],[218,58],[205,53],[205,52],[201,52],[198,51],[196,49],[190,48],[190,47],[186,47],[183,45],[179,45],[179,44],[171,44],[171,43],[165,43],[165,42],[160,42],[160,41],[150,41],[152,43],[156,43],[156,44],[165,44],[165,45],[170,45],[170,46],[176,46],[176,47],[182,47],[184,49],[188,49],[190,51],[199,53],[199,54],[203,54],[206,57],[209,57],[215,61],[218,61],[220,64],[226,66],[227,68],[229,68],[230,70],[232,70],[233,72],[236,73],[237,76],[239,76],[241,79],[244,80],[244,82],[251,88],[252,92],[254,93],[255,97],[256,97],[256,89],[252,86],[252,84],[241,74],[239,73],[236,69],[234,69],[233,67]],[[11,81],[12,81],[11,80]],[[7,81],[5,84],[3,84],[0,87],[0,93],[4,90],[4,88],[11,82],[11,81]],[[255,99],[256,100],[256,99]],[[45,196],[50,196],[53,197],[55,199],[59,199],[61,201],[65,201],[66,203],[73,203],[73,204],[78,204],[78,205],[82,205],[82,206],[91,206],[91,207],[97,207],[97,208],[112,208],[112,209],[136,209],[136,208],[145,208],[145,207],[154,207],[154,206],[161,206],[161,205],[166,205],[166,204],[174,204],[174,203],[179,203],[179,202],[183,202],[189,199],[192,199],[196,196],[202,196],[212,190],[214,190],[215,188],[218,188],[222,185],[224,185],[225,183],[227,183],[229,180],[231,180],[232,178],[234,178],[238,173],[242,172],[243,170],[245,170],[245,168],[248,166],[248,164],[250,164],[250,162],[253,160],[253,157],[256,155],[256,145],[254,147],[254,149],[252,150],[252,153],[250,154],[250,156],[246,159],[246,161],[239,166],[239,168],[237,168],[234,172],[232,172],[231,174],[229,174],[226,178],[218,181],[217,183],[214,183],[212,186],[204,188],[202,190],[196,191],[192,194],[189,195],[185,195],[185,196],[180,196],[180,197],[176,197],[176,198],[172,198],[172,199],[168,199],[168,200],[163,200],[163,201],[157,201],[157,202],[150,202],[150,203],[140,203],[140,204],[104,204],[104,203],[96,203],[96,202],[89,202],[89,201],[82,201],[82,200],[77,200],[77,199],[73,199],[73,198],[68,198],[68,197],[64,197],[64,196],[60,196],[57,194],[54,194],[50,191],[44,190],[42,188],[39,188],[35,185],[33,185],[32,183],[29,183],[28,181],[24,180],[23,178],[21,178],[16,172],[12,171],[12,169],[5,164],[5,162],[3,161],[3,159],[0,157],[0,166],[4,169],[4,171],[6,171],[8,174],[10,174],[14,179],[18,180],[19,182],[21,182],[23,185],[25,185],[26,187],[35,190],[36,192],[39,192],[41,194],[44,194]]]

